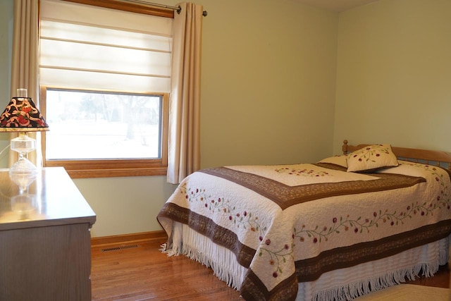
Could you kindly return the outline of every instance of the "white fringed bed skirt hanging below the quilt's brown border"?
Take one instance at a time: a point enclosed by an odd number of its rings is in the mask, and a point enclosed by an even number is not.
[[[422,247],[405,251],[408,254],[402,255],[402,260],[404,260],[405,256],[407,262],[399,265],[400,258],[398,257],[400,254],[395,255],[396,257],[390,259],[395,261],[393,265],[394,271],[385,272],[385,268],[377,263],[379,268],[375,271],[376,274],[374,276],[368,276],[368,273],[364,272],[367,269],[371,269],[371,267],[365,266],[362,269],[362,275],[360,275],[362,277],[352,272],[351,274],[353,276],[348,281],[345,280],[347,278],[346,274],[342,274],[342,271],[338,270],[326,273],[327,276],[325,278],[321,276],[316,281],[299,283],[296,300],[352,300],[376,290],[382,290],[383,288],[403,283],[406,281],[406,278],[414,280],[420,273],[426,277],[433,276],[438,271],[439,266],[448,262],[450,238],[451,236]],[[161,245],[161,251],[163,253],[168,254],[168,256],[183,254],[207,267],[211,267],[219,279],[226,282],[235,290],[240,290],[247,269],[237,264],[235,255],[232,252],[225,247],[215,245],[209,238],[198,235],[187,226],[183,228],[183,225],[180,223],[175,223],[172,239],[171,245]],[[408,258],[412,257],[416,258],[414,260],[417,264],[409,263],[412,261]],[[390,264],[390,262],[385,262],[386,259],[379,260],[383,260],[385,265]],[[357,280],[359,278],[362,278],[362,280]],[[340,283],[347,284],[340,285]]]

